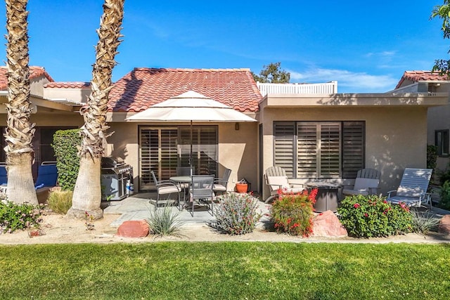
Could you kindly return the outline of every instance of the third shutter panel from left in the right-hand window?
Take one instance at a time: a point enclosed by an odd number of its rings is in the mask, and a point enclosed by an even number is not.
[[[320,178],[340,177],[340,123],[320,124]]]

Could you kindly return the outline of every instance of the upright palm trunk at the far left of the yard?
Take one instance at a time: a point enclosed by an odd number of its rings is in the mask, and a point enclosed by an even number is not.
[[[8,200],[38,204],[32,175],[34,124],[30,123],[30,67],[28,63],[27,0],[6,0],[6,163]]]

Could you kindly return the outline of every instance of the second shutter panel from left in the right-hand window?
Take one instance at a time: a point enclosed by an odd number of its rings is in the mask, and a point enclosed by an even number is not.
[[[297,123],[297,178],[318,178],[317,124]]]

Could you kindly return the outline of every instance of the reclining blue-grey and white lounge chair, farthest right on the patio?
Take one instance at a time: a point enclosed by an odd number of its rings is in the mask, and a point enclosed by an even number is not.
[[[404,203],[408,207],[422,207],[429,205],[431,208],[431,195],[427,193],[432,169],[406,168],[397,190],[387,192],[387,201],[393,204]]]

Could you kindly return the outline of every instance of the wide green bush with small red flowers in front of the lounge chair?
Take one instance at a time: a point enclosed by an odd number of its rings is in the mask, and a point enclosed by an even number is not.
[[[353,237],[387,237],[413,230],[406,204],[390,204],[385,197],[377,195],[345,197],[338,207],[338,215]]]

